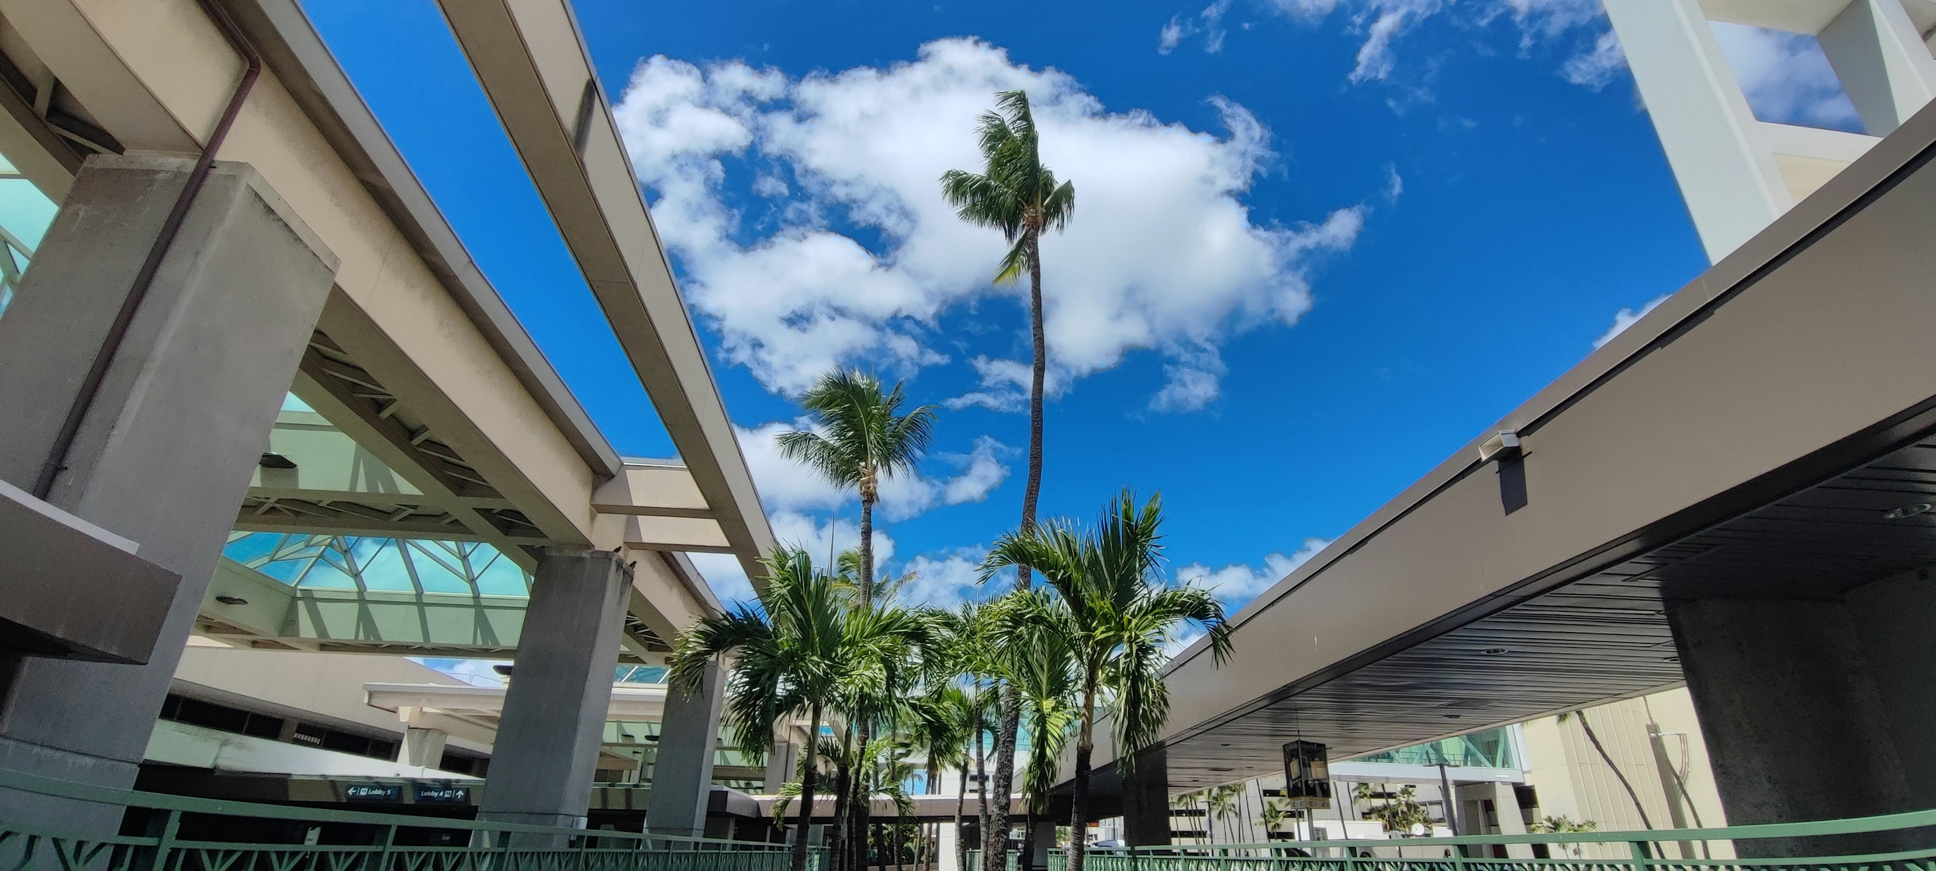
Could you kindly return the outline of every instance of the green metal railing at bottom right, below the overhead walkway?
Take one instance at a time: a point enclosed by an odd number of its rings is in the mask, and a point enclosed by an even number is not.
[[[1053,850],[1049,871],[1063,865]],[[1936,811],[1729,828],[1090,848],[1084,871],[1936,871]]]

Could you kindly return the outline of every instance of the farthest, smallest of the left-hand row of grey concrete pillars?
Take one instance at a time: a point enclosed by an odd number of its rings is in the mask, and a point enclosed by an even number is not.
[[[714,662],[697,693],[666,693],[666,716],[658,724],[658,753],[652,763],[652,796],[645,811],[645,828],[652,834],[699,838],[707,830],[724,683],[726,666]]]

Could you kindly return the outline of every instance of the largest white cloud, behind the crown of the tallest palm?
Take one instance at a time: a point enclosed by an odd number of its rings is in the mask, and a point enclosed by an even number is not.
[[[918,60],[885,70],[802,79],[654,56],[614,112],[687,300],[720,331],[722,354],[769,389],[798,393],[840,364],[941,366],[949,358],[929,343],[943,312],[1016,292],[989,285],[1001,236],[960,223],[937,182],[980,165],[976,116],[999,89],[1030,93],[1044,159],[1076,188],[1069,230],[1044,240],[1045,329],[1065,383],[1131,350],[1293,323],[1311,308],[1313,257],[1347,250],[1363,226],[1355,207],[1316,225],[1253,221],[1239,197],[1274,153],[1270,132],[1235,103],[1212,101],[1222,137],[1107,112],[1071,75],[972,39],[927,43]],[[751,174],[728,170],[738,157],[794,180],[772,199],[784,203],[776,228],[747,226],[726,205],[728,176]],[[836,232],[829,215],[877,234],[877,250]],[[983,385],[1013,383],[978,372]],[[982,393],[962,403],[1016,406],[1013,389]]]

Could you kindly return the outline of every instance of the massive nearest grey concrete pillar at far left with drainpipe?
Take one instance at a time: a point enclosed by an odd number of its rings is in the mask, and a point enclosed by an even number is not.
[[[31,490],[192,161],[89,157],[0,317],[0,478]],[[248,165],[207,176],[48,501],[182,577],[145,666],[21,660],[0,766],[132,786],[337,257]],[[114,617],[103,602],[101,619]],[[120,811],[8,794],[0,819],[112,834]]]

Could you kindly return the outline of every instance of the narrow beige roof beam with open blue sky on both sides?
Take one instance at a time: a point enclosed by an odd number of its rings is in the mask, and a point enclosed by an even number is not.
[[[604,308],[658,418],[714,509],[722,550],[757,577],[772,548],[664,248],[577,21],[563,0],[443,0],[457,43]]]

